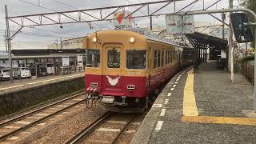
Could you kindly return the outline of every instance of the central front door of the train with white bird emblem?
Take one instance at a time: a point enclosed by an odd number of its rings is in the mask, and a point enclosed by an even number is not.
[[[122,46],[106,45],[102,62],[103,91],[117,92],[122,90]]]

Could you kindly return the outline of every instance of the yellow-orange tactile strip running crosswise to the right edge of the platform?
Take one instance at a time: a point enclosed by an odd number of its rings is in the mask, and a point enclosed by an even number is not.
[[[183,116],[182,122],[233,124],[256,126],[256,118],[230,118],[213,116]]]

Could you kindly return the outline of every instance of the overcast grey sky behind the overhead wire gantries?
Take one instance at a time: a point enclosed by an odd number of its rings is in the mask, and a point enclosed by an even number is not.
[[[96,8],[103,6],[117,6],[125,5],[130,3],[139,3],[139,2],[154,2],[157,0],[0,0],[0,50],[5,50],[4,44],[4,30],[6,30],[6,20],[5,20],[5,10],[4,5],[8,6],[9,16],[25,15],[25,14],[38,14],[38,13],[49,13],[54,11],[65,11],[65,10],[77,10],[77,9],[88,9]],[[210,6],[212,3],[218,0],[204,0],[205,7]],[[176,2],[176,10],[181,9],[194,0],[184,0],[181,2]],[[203,0],[198,0],[198,2],[187,7],[183,11],[188,10],[202,10]],[[218,2],[217,5],[212,6],[209,10],[213,9],[222,9],[228,7],[229,0],[222,0]],[[34,6],[40,5],[45,8]],[[162,5],[156,5],[152,7],[152,11],[157,10]],[[48,9],[48,10],[47,10]],[[130,7],[128,10],[132,11],[135,7]],[[104,11],[103,15],[107,14],[108,11]],[[159,11],[158,13],[173,13],[174,4],[166,6],[164,10]],[[139,10],[134,15],[146,14],[146,8]],[[97,15],[97,14],[96,14]],[[221,14],[216,14],[218,18],[221,18]],[[112,16],[111,16],[112,18]],[[208,24],[219,24],[217,20],[208,16],[200,15],[194,17],[195,24],[198,23],[208,23]],[[149,26],[149,18],[136,18],[135,23],[138,27]],[[165,26],[164,16],[158,18],[153,18],[153,24],[155,26]],[[86,23],[77,23],[77,24],[68,24],[63,25],[63,29],[60,29],[59,25],[57,26],[36,26],[35,28],[23,28],[22,32],[17,34],[17,36],[12,41],[12,47],[15,49],[18,48],[46,48],[46,45],[49,45],[52,42],[55,42],[56,39],[60,38],[77,38],[85,36],[88,33],[94,32],[99,29],[112,28],[113,24],[111,22],[94,22],[93,29],[90,30],[89,26]],[[17,30],[18,26],[10,22],[10,31],[11,34],[14,33],[14,30]]]

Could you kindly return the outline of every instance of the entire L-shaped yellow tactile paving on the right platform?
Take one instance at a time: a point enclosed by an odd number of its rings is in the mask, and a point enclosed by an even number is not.
[[[212,123],[212,124],[233,124],[256,126],[256,118],[232,118],[198,116],[198,107],[194,96],[194,74],[191,69],[187,74],[186,85],[184,87],[183,116],[182,122]]]

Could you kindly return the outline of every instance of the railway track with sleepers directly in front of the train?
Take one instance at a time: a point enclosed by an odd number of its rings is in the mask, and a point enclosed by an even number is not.
[[[101,117],[97,118],[94,122],[86,126],[85,129],[70,138],[66,144],[74,143],[115,143],[121,134],[126,130],[126,127],[132,122],[135,114],[114,114],[111,112],[106,112]],[[122,117],[122,121],[118,121],[117,117]],[[112,126],[110,126],[112,124]],[[106,128],[104,128],[106,127]],[[111,135],[110,138],[105,138],[105,136],[99,136],[98,133],[106,133]],[[102,134],[104,135],[104,134]],[[103,138],[103,139],[102,139]]]

